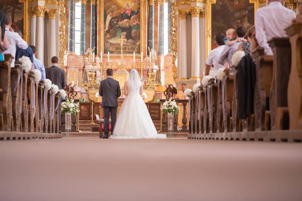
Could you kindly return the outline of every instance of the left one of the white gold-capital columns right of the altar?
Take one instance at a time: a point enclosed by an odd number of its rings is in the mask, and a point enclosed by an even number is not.
[[[187,79],[187,14],[188,10],[179,9],[179,80]]]

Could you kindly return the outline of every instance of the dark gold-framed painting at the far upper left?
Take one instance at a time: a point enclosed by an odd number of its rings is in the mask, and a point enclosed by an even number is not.
[[[12,28],[23,38],[24,35],[24,3],[19,0],[0,0],[0,10],[12,17]]]

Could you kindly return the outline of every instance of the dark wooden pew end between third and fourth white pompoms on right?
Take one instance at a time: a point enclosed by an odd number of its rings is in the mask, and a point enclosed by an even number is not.
[[[215,79],[210,79],[208,89],[210,90],[209,132],[216,133],[216,104],[218,85],[215,84]]]

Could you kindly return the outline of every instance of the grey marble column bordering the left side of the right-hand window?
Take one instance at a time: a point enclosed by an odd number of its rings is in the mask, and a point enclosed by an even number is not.
[[[159,1],[158,55],[165,55],[165,12],[164,1]]]

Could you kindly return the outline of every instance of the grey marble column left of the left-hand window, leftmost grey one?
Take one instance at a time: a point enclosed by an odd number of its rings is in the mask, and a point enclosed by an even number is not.
[[[75,0],[69,0],[68,52],[75,52]]]

